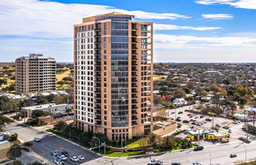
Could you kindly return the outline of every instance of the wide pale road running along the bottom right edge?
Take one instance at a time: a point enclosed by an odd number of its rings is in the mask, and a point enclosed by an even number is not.
[[[245,145],[245,146],[244,146]],[[245,161],[245,147],[246,147],[246,157],[247,160],[255,159],[256,142],[250,142],[249,144],[245,142],[234,142],[227,143],[224,145],[216,145],[215,147],[209,146],[205,147],[203,151],[193,151],[193,149],[188,149],[184,151],[172,151],[165,154],[153,154],[153,155],[143,155],[138,157],[124,157],[119,159],[107,159],[104,157],[86,162],[83,164],[97,165],[134,165],[134,164],[144,164],[146,165],[149,161],[149,157],[152,159],[161,160],[164,165],[170,165],[173,162],[179,162],[182,165],[191,165],[193,162],[197,161],[203,165],[209,165],[210,161],[212,164],[229,165],[236,161]],[[210,154],[211,159],[210,159]],[[236,154],[237,157],[230,158],[230,154]]]

